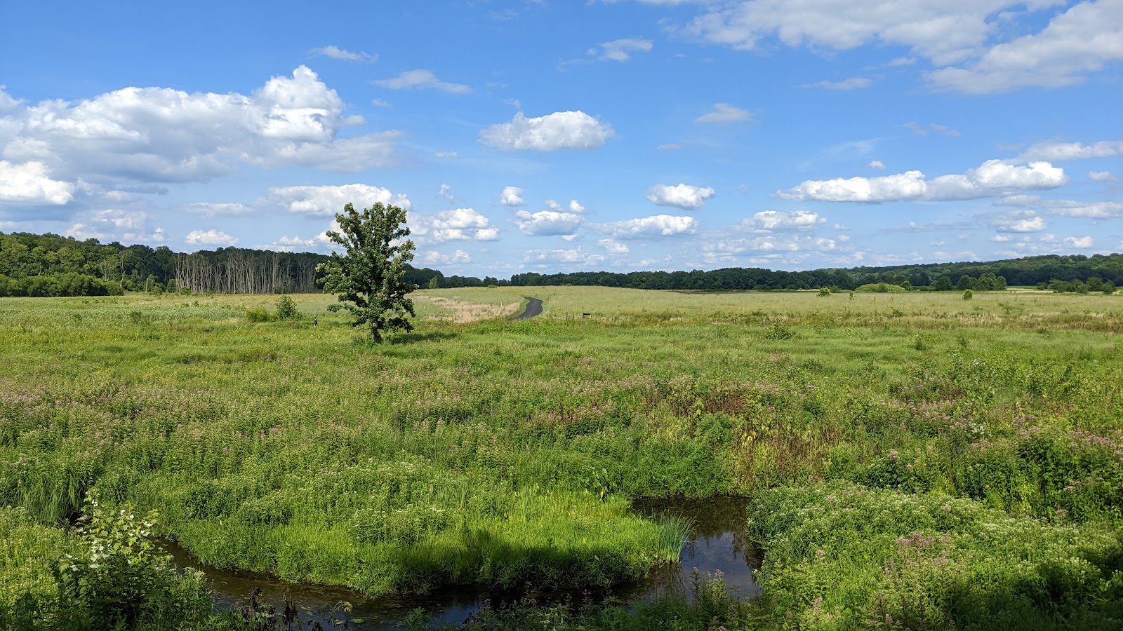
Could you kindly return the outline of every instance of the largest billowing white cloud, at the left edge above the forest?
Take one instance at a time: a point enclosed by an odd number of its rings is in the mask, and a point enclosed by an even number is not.
[[[252,94],[124,88],[81,101],[18,103],[0,116],[0,157],[42,163],[57,180],[206,182],[244,165],[363,171],[394,159],[398,131],[363,125],[307,66]]]

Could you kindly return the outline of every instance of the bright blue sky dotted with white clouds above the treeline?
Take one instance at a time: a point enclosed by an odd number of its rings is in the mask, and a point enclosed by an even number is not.
[[[419,266],[1123,252],[1123,0],[17,2],[0,231]]]

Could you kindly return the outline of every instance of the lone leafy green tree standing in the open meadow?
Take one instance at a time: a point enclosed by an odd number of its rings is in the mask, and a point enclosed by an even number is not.
[[[412,331],[407,314],[416,316],[413,301],[407,298],[417,285],[405,282],[405,264],[413,260],[413,241],[405,211],[382,202],[355,210],[351,204],[336,214],[339,231],[329,230],[328,238],[343,246],[346,254],[331,253],[331,259],[318,267],[325,274],[318,282],[323,291],[339,294],[339,302],[329,311],[346,309],[353,316],[351,326],[371,327],[374,341],[382,341],[382,331]]]

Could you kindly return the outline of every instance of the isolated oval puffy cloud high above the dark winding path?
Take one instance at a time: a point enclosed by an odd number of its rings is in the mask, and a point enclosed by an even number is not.
[[[482,130],[480,141],[505,152],[556,152],[595,149],[614,136],[612,126],[579,110],[536,118],[527,118],[522,112],[517,112],[511,122],[501,122]]]

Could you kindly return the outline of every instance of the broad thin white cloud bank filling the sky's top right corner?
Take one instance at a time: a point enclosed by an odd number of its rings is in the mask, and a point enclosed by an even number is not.
[[[1123,60],[1123,11],[1117,0],[1077,1],[1042,27],[1041,13],[1057,0],[729,0],[705,2],[682,34],[754,49],[774,42],[813,51],[906,46],[937,68],[931,86],[995,93],[1025,86],[1056,88]],[[1054,9],[1056,11],[1056,9]]]

